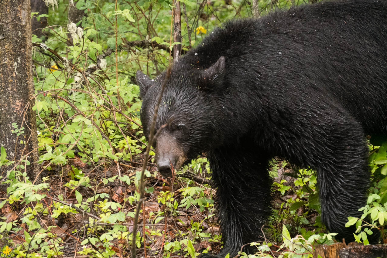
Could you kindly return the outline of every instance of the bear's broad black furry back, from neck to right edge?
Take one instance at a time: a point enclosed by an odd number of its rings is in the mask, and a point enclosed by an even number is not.
[[[208,68],[225,56],[228,91],[266,99],[318,94],[352,113],[367,132],[387,132],[386,6],[328,1],[229,21],[181,60]]]

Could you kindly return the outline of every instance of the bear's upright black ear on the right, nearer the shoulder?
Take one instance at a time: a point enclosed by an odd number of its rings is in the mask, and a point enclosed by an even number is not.
[[[217,84],[221,84],[224,77],[224,70],[226,68],[226,61],[224,56],[219,57],[219,59],[211,65],[211,67],[204,69],[201,74],[200,88],[202,89],[212,89]]]

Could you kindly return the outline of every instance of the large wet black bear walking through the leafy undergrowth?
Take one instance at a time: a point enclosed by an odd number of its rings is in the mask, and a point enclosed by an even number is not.
[[[165,72],[137,72],[149,133]],[[322,221],[354,239],[370,185],[366,134],[387,133],[387,1],[320,2],[216,28],[176,62],[159,105],[164,176],[207,153],[224,247],[256,241],[271,215],[268,161],[317,171]],[[380,233],[368,237],[377,243]]]

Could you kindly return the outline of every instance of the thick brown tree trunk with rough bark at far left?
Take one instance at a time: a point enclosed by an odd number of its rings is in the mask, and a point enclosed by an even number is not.
[[[39,155],[36,113],[30,100],[34,93],[30,0],[2,0],[0,17],[0,146],[7,159],[23,165],[21,171],[33,181]],[[19,136],[11,132],[15,127],[22,131]],[[26,166],[26,159],[31,165]],[[0,174],[4,176],[15,164],[1,167]]]

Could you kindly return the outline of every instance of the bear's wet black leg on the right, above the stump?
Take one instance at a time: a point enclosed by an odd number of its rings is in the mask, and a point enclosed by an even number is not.
[[[349,129],[350,128],[350,129]],[[348,217],[363,214],[358,209],[366,204],[370,186],[368,148],[357,123],[342,132],[336,132],[325,153],[320,153],[315,164],[321,203],[321,218],[330,232],[337,233],[337,240],[354,241],[355,227],[345,227]],[[325,145],[327,146],[327,145]],[[324,157],[325,156],[325,157]],[[370,243],[379,241],[380,232],[372,230]]]

